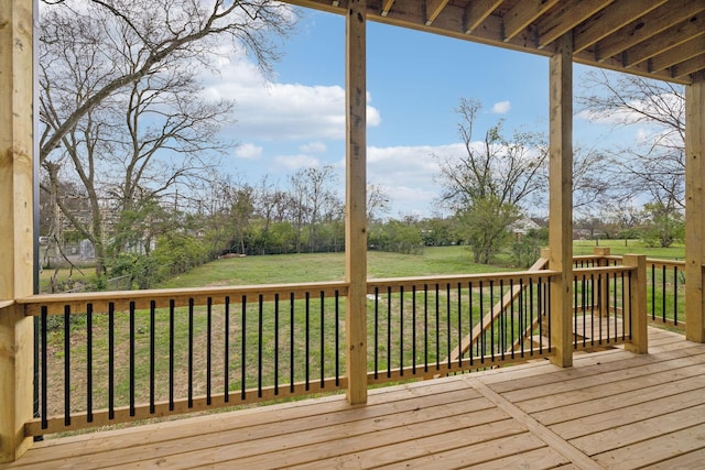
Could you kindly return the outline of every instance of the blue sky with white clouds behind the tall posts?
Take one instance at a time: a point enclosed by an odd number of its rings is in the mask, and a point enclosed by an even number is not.
[[[257,185],[263,174],[286,183],[299,167],[333,164],[344,184],[345,19],[300,10],[296,32],[283,44],[274,74],[248,59],[221,63],[210,96],[235,98],[236,123],[224,134],[238,142],[224,170]],[[459,99],[484,110],[476,136],[505,119],[512,129],[547,133],[549,59],[368,22],[368,182],[391,197],[390,217],[437,212],[432,155],[459,156]],[[575,67],[576,92],[585,67]],[[577,143],[611,130],[575,121]]]

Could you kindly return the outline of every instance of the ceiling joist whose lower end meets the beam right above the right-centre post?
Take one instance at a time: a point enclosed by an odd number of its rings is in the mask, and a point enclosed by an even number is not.
[[[538,23],[539,48],[545,47],[614,0],[570,0],[545,14]]]

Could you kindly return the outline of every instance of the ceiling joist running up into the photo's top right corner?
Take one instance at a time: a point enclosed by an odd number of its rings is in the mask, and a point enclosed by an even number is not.
[[[665,31],[668,28],[685,21],[705,9],[705,1],[671,0],[661,8],[632,21],[619,32],[597,43],[597,59],[621,54],[642,41]]]

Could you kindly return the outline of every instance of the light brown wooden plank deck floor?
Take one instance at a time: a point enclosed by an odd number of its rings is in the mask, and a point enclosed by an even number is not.
[[[705,345],[614,349],[370,392],[39,442],[8,468],[705,467]]]

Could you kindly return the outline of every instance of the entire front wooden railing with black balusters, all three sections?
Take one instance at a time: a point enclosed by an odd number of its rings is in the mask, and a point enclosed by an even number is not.
[[[574,270],[575,349],[633,340],[637,266],[603,264]],[[368,281],[368,384],[551,357],[556,274]],[[39,334],[25,433],[345,390],[348,295],[334,282],[19,299]]]

